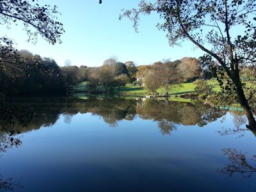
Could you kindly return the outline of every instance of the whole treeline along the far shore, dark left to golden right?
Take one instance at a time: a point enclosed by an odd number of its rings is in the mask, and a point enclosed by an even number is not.
[[[70,63],[59,67],[51,58],[42,58],[22,50],[8,56],[8,60],[0,58],[0,63],[0,92],[6,95],[65,93],[84,81],[91,93],[108,93],[116,87],[134,83],[145,86],[150,93],[161,88],[168,95],[173,84],[217,76],[214,67],[205,67],[204,58],[164,60],[137,67],[133,61],[122,63],[112,57],[100,67],[76,67]],[[244,79],[252,79],[255,69],[243,68],[241,73]]]

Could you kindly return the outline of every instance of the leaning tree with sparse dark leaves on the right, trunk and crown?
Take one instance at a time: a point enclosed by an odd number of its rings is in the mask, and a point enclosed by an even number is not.
[[[256,61],[255,7],[254,0],[140,1],[138,9],[125,10],[120,19],[129,17],[138,30],[141,14],[157,12],[164,21],[157,26],[167,31],[170,45],[177,45],[180,40],[190,40],[218,63],[217,69],[221,72],[221,77],[227,74],[238,101],[246,112],[248,127],[256,129],[255,118],[244,94],[244,84],[239,73],[241,66],[252,66]],[[235,30],[236,33],[232,33]],[[232,36],[237,33],[240,34]]]

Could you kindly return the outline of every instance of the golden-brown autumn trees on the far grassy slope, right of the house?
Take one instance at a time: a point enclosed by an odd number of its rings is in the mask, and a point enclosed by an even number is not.
[[[170,86],[194,81],[202,76],[202,68],[196,58],[183,58],[176,61],[159,61],[154,65],[141,65],[136,74],[137,84],[145,86],[150,93],[162,88],[166,95]]]

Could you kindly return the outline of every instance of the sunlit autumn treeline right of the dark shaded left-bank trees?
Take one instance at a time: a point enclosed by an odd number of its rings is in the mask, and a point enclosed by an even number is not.
[[[144,86],[150,93],[156,93],[161,88],[168,95],[170,88],[180,83],[193,82],[196,79],[217,78],[216,63],[205,63],[204,56],[196,58],[182,58],[181,60],[163,60],[153,65],[136,66],[133,61],[122,63],[115,57],[104,61],[100,67],[61,67],[65,87],[87,82],[91,93],[113,92],[114,88],[133,83]],[[241,70],[243,79],[255,79],[255,68],[244,67]]]

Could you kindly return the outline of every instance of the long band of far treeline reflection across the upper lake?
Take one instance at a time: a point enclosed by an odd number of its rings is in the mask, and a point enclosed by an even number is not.
[[[198,125],[200,127],[214,122],[217,118],[225,115],[227,111],[205,106],[201,102],[164,102],[159,100],[129,100],[122,98],[115,99],[88,99],[81,100],[72,97],[65,98],[42,98],[39,101],[29,101],[33,110],[31,113],[24,111],[22,115],[28,115],[25,119],[31,118],[26,126],[13,124],[13,128],[20,132],[26,132],[40,127],[54,125],[61,115],[67,124],[72,122],[72,116],[77,113],[92,113],[100,116],[111,127],[116,127],[121,120],[133,120],[136,115],[144,120],[154,120],[164,134],[170,134],[175,129],[175,124]],[[9,106],[26,108],[26,100],[15,100]]]

